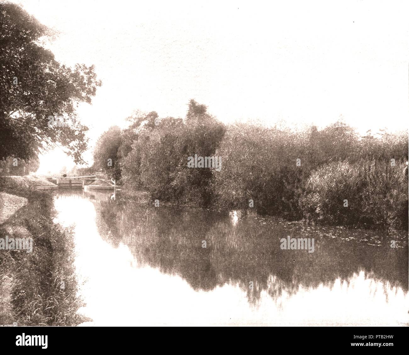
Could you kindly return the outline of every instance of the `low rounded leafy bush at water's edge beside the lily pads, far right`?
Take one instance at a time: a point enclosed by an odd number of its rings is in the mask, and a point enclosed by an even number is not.
[[[311,173],[300,208],[309,220],[330,224],[405,227],[408,181],[403,170],[402,163],[376,160],[324,165]]]

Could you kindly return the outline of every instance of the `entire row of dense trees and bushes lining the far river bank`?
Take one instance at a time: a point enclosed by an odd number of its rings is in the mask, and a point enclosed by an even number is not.
[[[343,124],[322,130],[225,125],[189,102],[184,119],[129,117],[98,140],[94,170],[152,199],[220,209],[255,209],[291,220],[407,228],[408,136],[365,136]],[[222,168],[189,169],[189,156],[221,157]],[[110,164],[109,164],[110,162]]]

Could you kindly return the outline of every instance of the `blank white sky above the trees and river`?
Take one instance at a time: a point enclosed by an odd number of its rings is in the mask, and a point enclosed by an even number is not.
[[[184,117],[191,98],[223,122],[407,129],[408,1],[16,2],[60,32],[58,61],[95,65],[91,149],[133,110]]]

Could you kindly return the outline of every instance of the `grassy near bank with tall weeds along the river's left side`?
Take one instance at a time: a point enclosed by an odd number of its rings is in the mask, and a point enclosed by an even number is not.
[[[76,311],[73,235],[54,224],[52,194],[27,186],[0,191],[27,198],[28,204],[0,225],[0,238],[32,238],[33,250],[0,250],[0,324],[74,326]]]

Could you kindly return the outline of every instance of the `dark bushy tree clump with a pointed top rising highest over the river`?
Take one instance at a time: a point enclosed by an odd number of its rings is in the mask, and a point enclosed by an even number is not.
[[[129,186],[145,187],[153,199],[206,206],[213,197],[211,169],[189,169],[187,158],[213,156],[224,125],[191,100],[187,119],[146,117],[130,151],[121,160],[122,178]],[[124,139],[123,144],[126,143]]]

